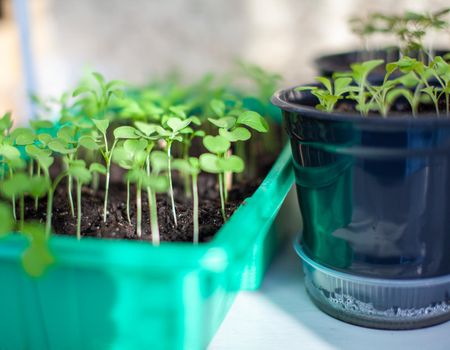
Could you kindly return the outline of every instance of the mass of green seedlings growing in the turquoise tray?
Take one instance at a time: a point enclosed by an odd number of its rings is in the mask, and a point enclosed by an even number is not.
[[[44,243],[51,233],[53,197],[63,179],[67,179],[65,184],[72,215],[77,219],[78,239],[82,233],[82,189],[90,184],[96,189],[95,183],[103,178],[103,218],[107,220],[113,162],[126,171],[130,223],[130,187],[136,188],[138,236],[142,234],[141,192],[147,191],[153,244],[158,245],[160,240],[157,194],[169,193],[177,224],[173,171],[183,176],[186,197],[192,196],[194,243],[199,241],[197,180],[202,171],[218,176],[225,220],[225,202],[233,174],[243,172],[245,155],[252,154],[248,141],[269,130],[263,117],[264,108],[279,80],[279,76],[257,66],[242,64],[241,68],[255,83],[261,98],[252,97],[252,101],[257,101],[257,111],[244,107],[245,94],[241,90],[230,87],[226,80],[217,84],[212,76],[191,86],[181,87],[180,81],[173,79],[124,91],[124,83],[108,82],[101,74],[93,73],[90,82],[80,84],[60,98],[44,100],[34,96],[40,119],[30,122],[30,127],[13,129],[11,114],[4,114],[0,118],[0,194],[11,205],[0,202],[0,235],[17,226],[30,238],[30,247],[24,253],[27,271],[37,276],[52,261]],[[41,119],[53,119],[55,114],[58,117],[55,122]],[[192,151],[193,144],[201,145],[200,149]],[[244,145],[249,149],[242,152]],[[205,150],[206,153],[198,153]],[[73,190],[76,190],[76,206]],[[26,223],[25,197],[34,198],[38,208],[38,200],[44,196],[47,196],[45,227]],[[20,215],[16,215],[16,206]]]

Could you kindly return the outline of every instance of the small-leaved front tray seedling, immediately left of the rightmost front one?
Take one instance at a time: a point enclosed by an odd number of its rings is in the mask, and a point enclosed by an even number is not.
[[[193,240],[194,244],[199,242],[199,225],[198,225],[198,175],[200,174],[201,167],[198,158],[189,157],[186,159],[176,159],[173,162],[174,169],[180,171],[191,177],[192,183],[192,208],[193,208]]]

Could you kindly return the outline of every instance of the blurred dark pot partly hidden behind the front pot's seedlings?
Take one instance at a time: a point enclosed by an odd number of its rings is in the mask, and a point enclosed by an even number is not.
[[[431,53],[434,56],[444,56],[449,50],[438,49]],[[416,58],[418,60],[428,58],[421,58],[421,54],[418,52],[411,52],[409,57]],[[347,72],[350,71],[350,66],[353,63],[364,62],[368,60],[382,59],[385,63],[395,62],[401,58],[401,53],[398,47],[386,47],[379,50],[354,50],[339,52],[329,55],[323,55],[317,57],[314,60],[314,65],[319,71],[319,74],[326,77],[331,77],[336,72]],[[369,74],[368,80],[371,82],[382,82],[386,70],[385,65],[376,68],[373,72]],[[395,77],[395,74],[393,75]]]

